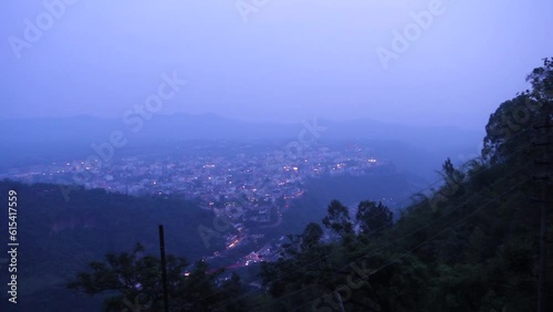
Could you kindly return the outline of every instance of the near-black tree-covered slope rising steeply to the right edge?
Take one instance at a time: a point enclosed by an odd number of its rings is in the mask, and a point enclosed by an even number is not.
[[[535,311],[540,277],[553,280],[549,259],[540,268],[540,232],[553,221],[552,61],[528,82],[490,116],[482,156],[458,168],[447,159],[442,186],[415,195],[397,223],[377,202],[349,216],[333,201],[323,225],[337,240],[323,242],[317,223],[290,237],[281,260],[263,263],[255,309]],[[542,241],[551,250],[551,230]]]

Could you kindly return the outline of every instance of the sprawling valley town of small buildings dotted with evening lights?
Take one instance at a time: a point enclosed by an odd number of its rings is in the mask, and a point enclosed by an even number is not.
[[[79,184],[131,195],[180,194],[200,207],[236,222],[275,222],[290,201],[302,196],[309,178],[365,175],[380,165],[362,147],[303,150],[288,157],[282,149],[231,156],[188,153],[163,157],[71,159],[14,168],[0,178]]]

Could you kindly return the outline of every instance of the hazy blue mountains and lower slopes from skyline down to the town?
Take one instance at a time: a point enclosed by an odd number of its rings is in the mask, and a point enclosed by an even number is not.
[[[479,153],[483,132],[456,127],[396,125],[358,118],[352,121],[306,119],[303,123],[254,123],[216,114],[154,115],[149,121],[74,116],[65,118],[21,118],[0,122],[0,168],[38,164],[59,158],[80,158],[93,153],[92,144],[107,143],[117,133],[124,147],[144,150],[176,146],[192,141],[271,141],[303,143],[320,141],[371,142],[383,157],[399,168],[434,178],[447,157],[468,158]],[[459,155],[463,157],[458,157]],[[466,156],[467,155],[467,156]],[[467,159],[465,159],[467,160]]]

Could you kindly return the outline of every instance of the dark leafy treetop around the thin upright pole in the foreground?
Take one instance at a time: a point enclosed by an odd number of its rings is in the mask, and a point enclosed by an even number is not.
[[[92,295],[107,293],[104,311],[163,311],[161,263],[157,257],[143,252],[144,247],[138,243],[132,252],[108,253],[105,262],[91,262],[92,272],[79,273],[67,287]],[[215,306],[227,305],[232,295],[241,292],[238,275],[217,283],[223,270],[209,272],[204,261],[187,271],[185,258],[169,254],[166,268],[171,311],[212,311]],[[240,302],[229,306],[243,311]]]

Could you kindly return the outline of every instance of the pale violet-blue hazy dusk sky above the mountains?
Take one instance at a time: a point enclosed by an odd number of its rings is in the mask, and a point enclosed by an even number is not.
[[[10,0],[1,112],[122,117],[176,72],[188,84],[159,113],[481,129],[553,56],[552,15],[551,0]]]

